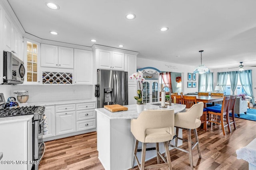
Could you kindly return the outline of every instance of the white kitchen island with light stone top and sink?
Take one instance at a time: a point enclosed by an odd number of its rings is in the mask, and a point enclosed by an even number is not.
[[[126,107],[128,107],[128,111],[118,112],[111,112],[105,108],[95,109],[97,113],[98,158],[106,170],[132,168],[136,140],[130,131],[130,121],[136,119],[139,114],[136,104]],[[185,107],[186,105],[172,104],[167,108],[160,108],[154,104],[146,104],[144,110],[174,109],[174,113],[178,113]],[[182,137],[182,129],[180,129],[179,137]],[[148,145],[155,147],[154,144],[147,144],[147,148]],[[182,145],[182,141],[179,141],[178,145]],[[159,148],[160,152],[164,152],[163,144],[160,143]],[[140,153],[137,153],[138,158],[140,158]],[[146,160],[154,157],[156,157],[156,150],[146,151]]]

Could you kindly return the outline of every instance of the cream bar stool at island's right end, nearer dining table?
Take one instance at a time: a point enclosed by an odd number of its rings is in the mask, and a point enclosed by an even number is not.
[[[201,125],[200,116],[202,116],[203,114],[203,109],[204,109],[204,103],[198,102],[197,104],[194,104],[192,107],[190,107],[190,109],[188,109],[186,112],[179,112],[174,116],[175,117],[174,126],[176,127],[176,141],[175,141],[175,146],[171,144],[169,144],[169,146],[174,147],[178,150],[182,150],[183,152],[189,153],[191,169],[193,169],[192,149],[194,149],[194,147],[197,147],[199,158],[201,158],[201,152],[199,148],[196,128],[200,127]],[[188,140],[178,137],[179,128],[187,130]],[[191,129],[194,129],[194,136],[196,139],[196,143],[193,143],[191,141]],[[178,139],[183,141],[188,141],[188,150],[177,147]]]

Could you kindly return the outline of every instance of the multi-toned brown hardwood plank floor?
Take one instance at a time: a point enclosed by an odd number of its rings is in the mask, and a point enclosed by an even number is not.
[[[198,157],[197,149],[193,150],[193,164],[196,170],[248,170],[248,162],[236,159],[236,150],[248,145],[256,138],[256,121],[236,118],[236,127],[231,125],[232,132],[222,134],[220,125],[208,127],[205,132],[198,128],[198,138],[202,158]],[[192,133],[193,134],[193,133]],[[46,142],[46,151],[39,170],[104,170],[98,160],[97,133],[87,133]],[[183,132],[186,136],[186,131]],[[194,134],[192,135],[194,139]],[[194,140],[193,140],[194,141]],[[182,147],[188,149],[188,143]],[[189,170],[189,156],[180,150],[170,150],[172,169]],[[156,158],[146,162],[156,163]],[[151,170],[166,170],[153,168]],[[132,170],[139,170],[138,166]]]

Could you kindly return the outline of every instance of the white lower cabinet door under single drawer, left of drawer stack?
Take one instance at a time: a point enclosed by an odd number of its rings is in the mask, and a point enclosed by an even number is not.
[[[56,135],[76,131],[76,111],[56,113]]]

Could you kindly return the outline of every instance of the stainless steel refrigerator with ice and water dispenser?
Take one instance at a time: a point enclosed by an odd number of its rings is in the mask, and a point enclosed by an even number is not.
[[[128,105],[128,72],[98,70],[95,85],[97,108],[105,105]]]

